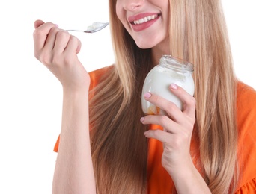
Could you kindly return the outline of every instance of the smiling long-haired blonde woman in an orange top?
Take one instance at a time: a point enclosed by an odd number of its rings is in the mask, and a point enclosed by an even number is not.
[[[63,86],[53,193],[255,193],[256,92],[234,75],[221,2],[109,5],[115,64],[90,74],[76,37],[34,24],[35,57]],[[183,111],[145,93],[168,116],[144,116],[144,78],[163,54],[195,65],[195,96],[170,83]]]

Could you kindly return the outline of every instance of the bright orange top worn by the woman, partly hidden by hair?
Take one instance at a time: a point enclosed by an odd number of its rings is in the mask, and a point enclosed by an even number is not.
[[[98,69],[90,72],[92,89],[95,87],[101,75],[108,68]],[[240,182],[237,186],[236,194],[256,193],[256,91],[238,82],[237,84],[237,126],[239,130],[239,163],[240,163]],[[152,125],[152,129],[159,126]],[[55,144],[54,151],[58,151],[59,137]],[[191,151],[198,153],[198,146],[192,140]],[[158,140],[150,139],[148,153],[148,189],[147,193],[162,194],[171,193],[174,184],[170,175],[161,164],[162,143]]]

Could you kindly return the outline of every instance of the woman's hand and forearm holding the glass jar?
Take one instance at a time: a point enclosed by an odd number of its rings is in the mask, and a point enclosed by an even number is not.
[[[183,102],[183,110],[165,98],[145,93],[144,98],[147,101],[167,113],[167,116],[148,115],[141,118],[143,124],[156,124],[164,128],[163,131],[146,131],[145,136],[162,142],[162,166],[171,175],[177,193],[210,193],[190,155],[195,124],[195,98],[176,84],[171,84],[170,90]]]

